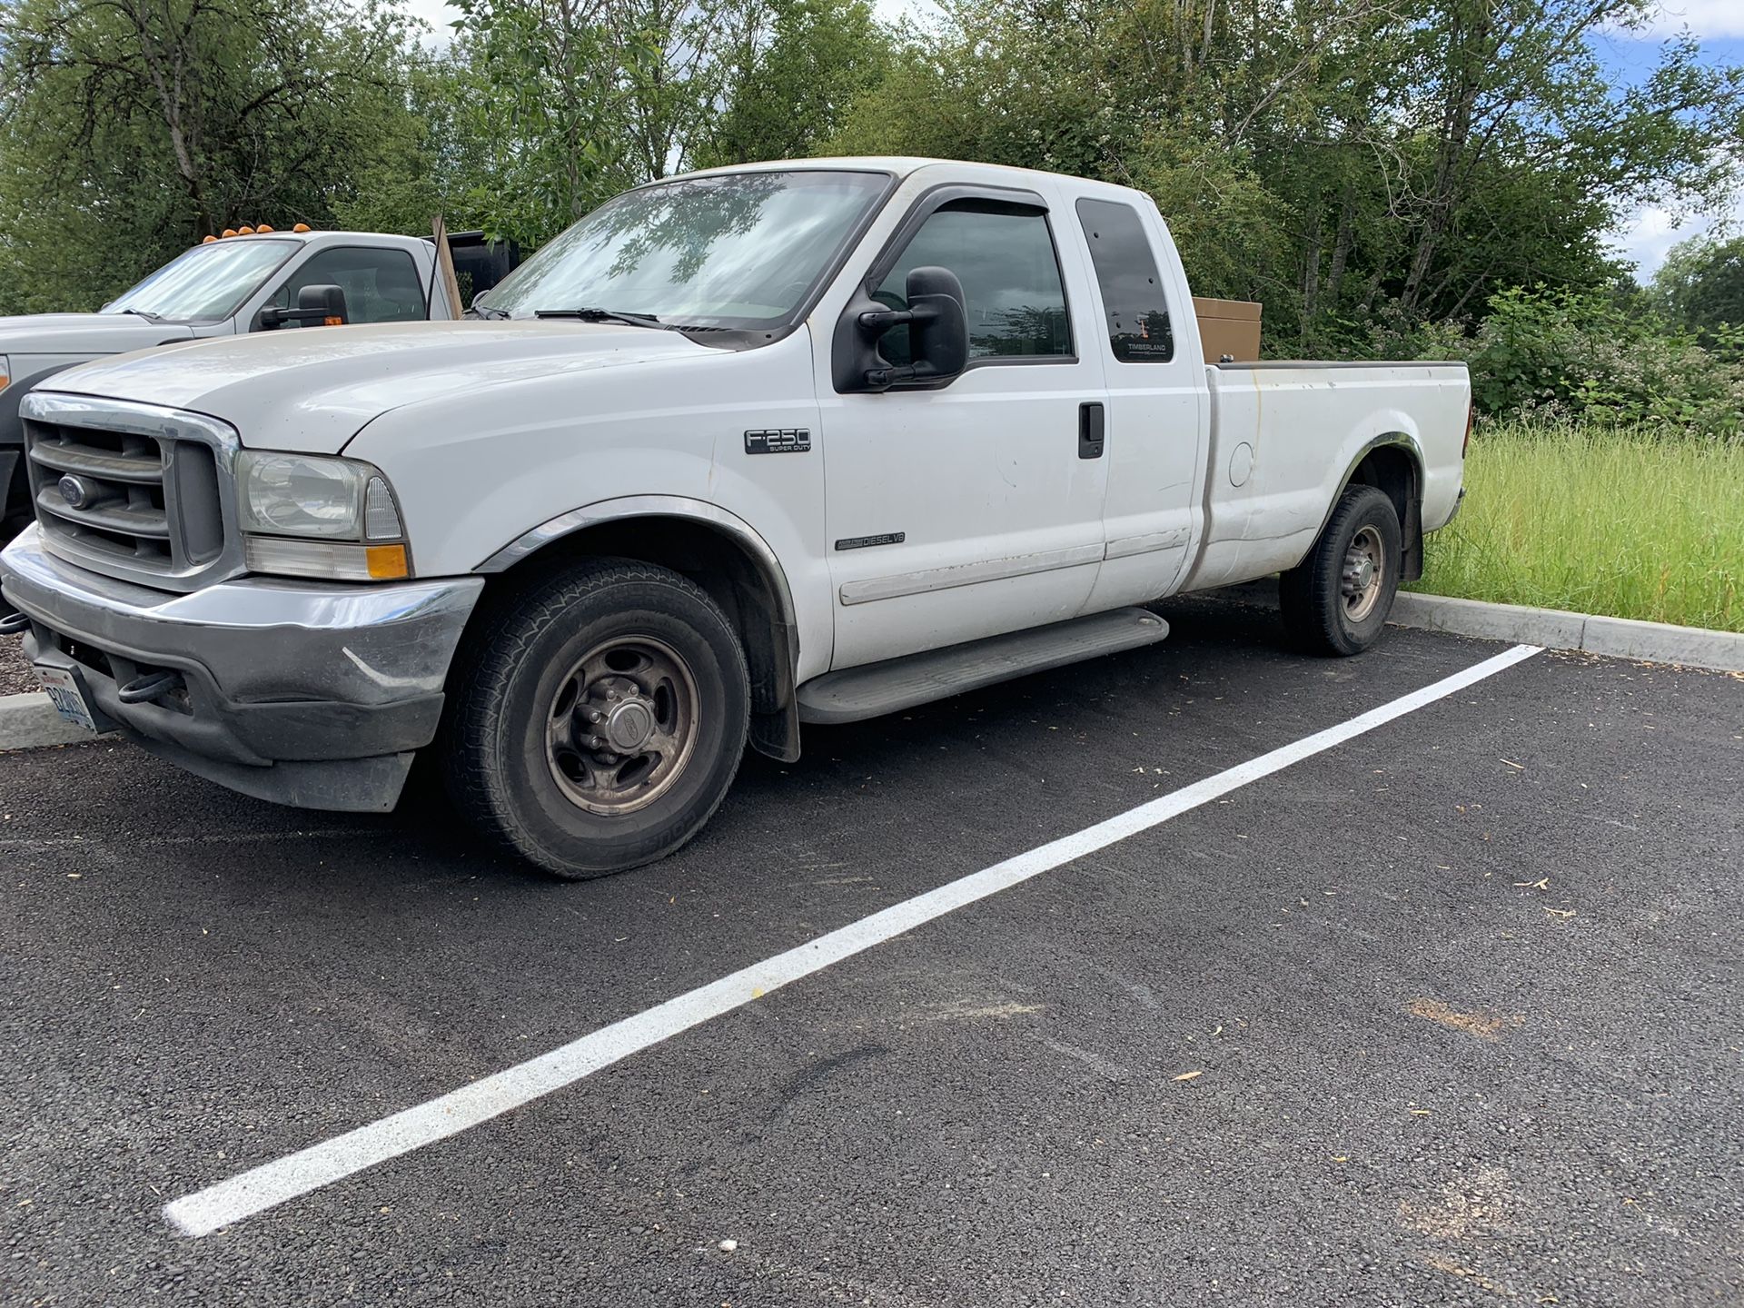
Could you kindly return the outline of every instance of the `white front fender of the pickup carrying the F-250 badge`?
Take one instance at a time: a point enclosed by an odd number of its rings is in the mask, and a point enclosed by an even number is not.
[[[821,441],[752,453],[745,438],[797,427],[818,431],[804,331],[406,405],[364,426],[345,453],[387,474],[419,576],[501,570],[544,541],[638,513],[731,530],[771,560],[799,673],[814,675],[823,666],[811,661],[827,666],[832,645]]]

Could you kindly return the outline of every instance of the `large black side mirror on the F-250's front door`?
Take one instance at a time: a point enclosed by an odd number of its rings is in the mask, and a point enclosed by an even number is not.
[[[950,269],[926,267],[909,272],[903,286],[907,309],[886,309],[862,296],[848,307],[835,333],[835,389],[888,391],[903,382],[942,384],[970,363],[970,323],[963,283]],[[900,368],[879,354],[879,338],[909,324],[909,358]]]

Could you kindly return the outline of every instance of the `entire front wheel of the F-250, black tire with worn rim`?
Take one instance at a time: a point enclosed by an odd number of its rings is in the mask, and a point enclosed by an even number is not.
[[[713,816],[750,727],[738,635],[696,582],[595,562],[469,633],[439,741],[448,795],[560,877],[664,858]]]

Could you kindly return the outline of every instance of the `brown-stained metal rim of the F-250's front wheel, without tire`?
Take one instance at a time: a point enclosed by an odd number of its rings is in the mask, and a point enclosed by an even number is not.
[[[556,684],[546,712],[551,780],[576,807],[621,816],[647,807],[696,748],[696,677],[663,640],[616,637]]]

